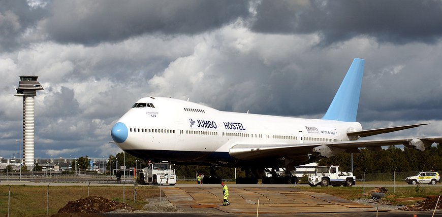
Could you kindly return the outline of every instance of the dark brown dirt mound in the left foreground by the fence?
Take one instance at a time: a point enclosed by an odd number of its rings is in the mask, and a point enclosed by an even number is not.
[[[113,200],[109,201],[108,199],[103,197],[90,196],[74,201],[69,201],[65,207],[58,210],[58,213],[104,213],[117,209],[127,209],[131,211],[136,210],[124,203],[119,203]]]

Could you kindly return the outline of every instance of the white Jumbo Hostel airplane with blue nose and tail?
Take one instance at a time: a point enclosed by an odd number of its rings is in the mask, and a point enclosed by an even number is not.
[[[355,58],[322,119],[224,112],[166,97],[139,99],[112,127],[117,146],[135,157],[176,164],[242,167],[255,183],[265,168],[286,168],[359,148],[403,145],[424,151],[442,137],[358,140],[424,124],[363,130],[356,122],[364,59]],[[247,170],[248,171],[248,170]],[[247,175],[249,176],[249,175]],[[296,183],[297,178],[289,177]],[[219,181],[218,181],[219,182]]]

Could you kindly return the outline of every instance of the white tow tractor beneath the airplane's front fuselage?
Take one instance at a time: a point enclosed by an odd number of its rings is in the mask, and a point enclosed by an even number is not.
[[[140,172],[141,185],[164,185],[169,184],[174,186],[176,184],[175,164],[167,161],[161,163],[149,163],[147,167]]]

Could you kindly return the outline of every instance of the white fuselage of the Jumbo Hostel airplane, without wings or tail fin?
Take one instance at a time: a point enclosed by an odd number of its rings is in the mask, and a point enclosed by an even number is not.
[[[362,130],[358,122],[222,112],[162,97],[138,100],[118,123],[127,127],[127,137],[115,139],[117,129],[112,129],[112,137],[129,154],[146,160],[215,165],[238,163],[229,155],[236,144],[346,141],[347,132]]]

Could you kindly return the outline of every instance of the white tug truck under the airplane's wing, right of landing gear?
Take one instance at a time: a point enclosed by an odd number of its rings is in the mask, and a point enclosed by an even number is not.
[[[318,166],[314,174],[308,175],[308,185],[311,187],[325,186],[353,186],[356,176],[352,172],[339,171],[338,166]]]

